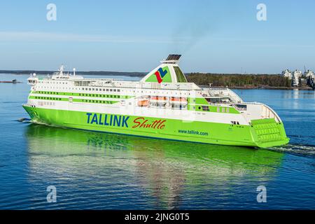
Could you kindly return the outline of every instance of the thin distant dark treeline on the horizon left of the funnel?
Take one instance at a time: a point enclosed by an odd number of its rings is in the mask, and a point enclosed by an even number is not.
[[[38,75],[47,75],[52,74],[55,71],[34,71],[34,70],[0,70],[0,73],[11,73],[11,74],[30,74],[30,73],[36,73]],[[64,73],[67,73],[68,71],[64,71]],[[69,71],[69,73],[72,71]],[[145,76],[145,72],[123,72],[123,71],[76,71],[77,75],[93,75],[93,76],[137,76],[142,77]]]

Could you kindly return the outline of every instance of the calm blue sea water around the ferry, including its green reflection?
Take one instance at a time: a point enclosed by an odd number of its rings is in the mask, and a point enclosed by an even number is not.
[[[315,209],[313,91],[236,91],[272,106],[290,137],[256,150],[20,123],[27,77],[0,74],[24,82],[0,83],[0,209]]]

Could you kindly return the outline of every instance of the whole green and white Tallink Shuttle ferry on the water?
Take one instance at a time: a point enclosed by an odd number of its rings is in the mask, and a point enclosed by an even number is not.
[[[287,144],[269,106],[244,102],[228,87],[188,83],[181,55],[169,55],[140,81],[31,74],[27,104],[34,123],[204,144],[267,148]]]

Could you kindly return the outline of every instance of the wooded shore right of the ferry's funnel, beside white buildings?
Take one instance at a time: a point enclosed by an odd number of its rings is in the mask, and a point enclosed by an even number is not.
[[[186,76],[188,82],[197,85],[229,86],[229,87],[290,87],[291,81],[281,75],[267,74],[220,74],[220,73],[190,73]]]

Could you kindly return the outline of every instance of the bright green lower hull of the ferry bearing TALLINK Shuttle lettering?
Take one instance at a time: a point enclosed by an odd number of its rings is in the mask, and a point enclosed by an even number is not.
[[[139,137],[190,141],[203,144],[267,148],[288,144],[283,123],[253,120],[252,125],[232,125],[192,120],[129,116],[23,106],[31,120],[79,130],[128,134]]]

